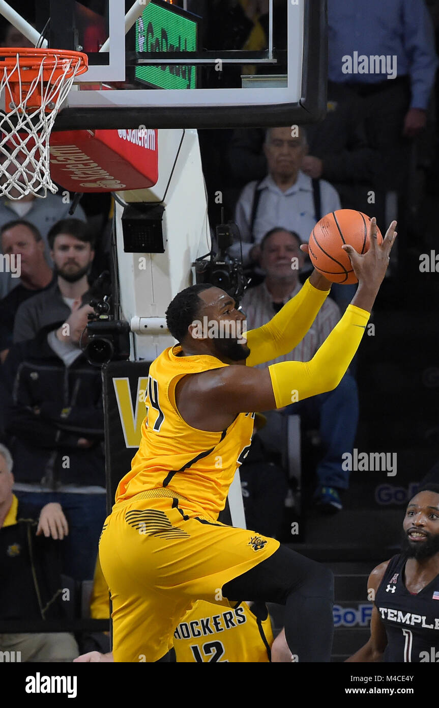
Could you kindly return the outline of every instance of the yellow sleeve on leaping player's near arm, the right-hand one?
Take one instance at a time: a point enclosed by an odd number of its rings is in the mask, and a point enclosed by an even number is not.
[[[268,367],[276,408],[335,389],[361,342],[370,313],[349,305],[308,362],[284,361]]]

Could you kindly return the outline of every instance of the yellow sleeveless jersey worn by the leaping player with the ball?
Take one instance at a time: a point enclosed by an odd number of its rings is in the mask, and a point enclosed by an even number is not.
[[[254,413],[239,413],[219,433],[189,426],[175,405],[177,382],[188,374],[227,364],[211,355],[181,353],[180,345],[170,347],[151,364],[139,451],[131,471],[119,482],[116,503],[160,489],[163,495],[182,498],[180,506],[185,510],[216,520],[235,471],[250,448]]]

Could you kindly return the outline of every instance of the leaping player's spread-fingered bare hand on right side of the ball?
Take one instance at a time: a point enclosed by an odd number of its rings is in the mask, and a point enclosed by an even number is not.
[[[352,263],[353,272],[360,285],[365,285],[371,290],[378,291],[384,279],[390,261],[390,251],[397,236],[395,231],[397,222],[393,221],[387,229],[387,234],[382,239],[382,244],[377,241],[377,220],[370,219],[370,248],[367,253],[357,253],[352,246],[345,244],[341,248],[346,251]]]

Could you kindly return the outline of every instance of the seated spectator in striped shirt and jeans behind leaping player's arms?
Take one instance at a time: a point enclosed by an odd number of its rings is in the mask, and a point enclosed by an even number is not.
[[[300,290],[298,273],[303,265],[300,238],[294,232],[276,227],[271,229],[260,244],[259,262],[266,278],[261,285],[247,290],[242,299],[247,329],[266,324],[279,309]],[[339,308],[327,298],[315,318],[310,331],[300,344],[286,356],[275,361],[309,361],[315,355],[340,318]],[[274,363],[270,362],[270,363]],[[265,364],[266,365],[266,364]],[[334,391],[312,396],[288,406],[286,413],[299,413],[305,426],[317,426],[324,447],[324,457],[317,467],[318,486],[315,503],[324,512],[341,510],[340,491],[347,489],[349,472],[341,465],[341,455],[353,449],[358,423],[358,392],[356,382],[349,372]],[[267,414],[264,442],[274,442],[279,450],[281,440],[276,430],[281,430],[277,411]]]

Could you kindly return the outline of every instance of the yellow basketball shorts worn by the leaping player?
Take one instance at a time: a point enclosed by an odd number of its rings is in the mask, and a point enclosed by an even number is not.
[[[254,531],[189,516],[181,498],[146,494],[115,505],[100,537],[115,661],[158,661],[195,600],[230,607],[221,588],[279,548]]]

